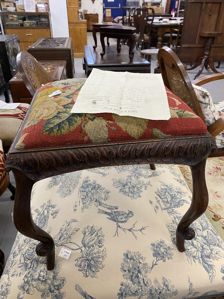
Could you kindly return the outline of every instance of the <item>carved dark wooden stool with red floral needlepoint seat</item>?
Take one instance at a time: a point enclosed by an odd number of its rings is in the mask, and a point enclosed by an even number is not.
[[[185,164],[191,167],[193,196],[177,226],[177,248],[183,252],[184,241],[195,236],[189,225],[208,206],[205,163],[208,155],[217,150],[214,138],[207,132],[205,123],[169,90],[170,109],[181,112],[179,117],[176,115],[170,120],[136,120],[111,113],[71,114],[70,109],[84,82],[85,79],[68,79],[47,83],[33,97],[5,164],[5,170],[12,170],[16,181],[13,211],[16,228],[25,236],[39,240],[36,253],[47,257],[47,269],[51,270],[55,263],[54,240],[33,222],[30,212],[31,190],[36,181],[112,165],[150,164],[153,169],[154,163]],[[47,89],[60,89],[62,94],[49,99]],[[123,126],[125,119],[128,131]],[[110,123],[108,135],[103,134],[105,122]],[[143,126],[145,129],[140,133]],[[131,133],[134,131],[137,135]]]

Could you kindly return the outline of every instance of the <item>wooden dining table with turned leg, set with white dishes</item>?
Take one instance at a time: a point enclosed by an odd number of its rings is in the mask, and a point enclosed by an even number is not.
[[[180,18],[178,18],[178,19],[180,19]],[[156,46],[157,49],[162,48],[163,36],[166,32],[170,32],[170,28],[178,29],[178,26],[179,26],[178,19],[176,19],[177,22],[159,21],[157,23],[155,23],[155,22],[152,23],[152,30],[157,31],[157,34],[158,34],[157,46]]]

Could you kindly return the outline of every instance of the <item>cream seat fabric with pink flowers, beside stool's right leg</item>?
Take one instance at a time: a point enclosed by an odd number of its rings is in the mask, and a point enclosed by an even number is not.
[[[191,170],[187,165],[179,166],[188,187],[192,191]],[[208,158],[205,178],[209,203],[205,215],[224,241],[224,157]]]

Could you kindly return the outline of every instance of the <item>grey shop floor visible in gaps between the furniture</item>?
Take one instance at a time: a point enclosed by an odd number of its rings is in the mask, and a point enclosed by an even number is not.
[[[91,32],[88,32],[88,45],[94,45],[93,36]],[[97,33],[98,45],[100,47],[99,41],[99,33]],[[115,39],[110,39],[111,45],[116,45]],[[140,48],[139,48],[140,51]],[[140,54],[139,54],[140,55]],[[216,64],[215,64],[216,65]],[[154,72],[154,68],[156,68],[156,56],[152,56],[151,59],[151,72]],[[188,75],[190,80],[194,79],[194,76],[197,74],[199,67],[195,70],[188,71]],[[224,63],[221,64],[220,72],[224,72]],[[211,70],[202,72],[201,76],[213,74]],[[82,59],[75,58],[75,78],[86,78],[85,71],[82,68]],[[211,93],[212,99],[214,102],[218,102],[223,100],[223,87],[224,80],[217,80],[213,83],[208,83],[204,86]],[[4,96],[0,96],[0,100],[4,101]],[[10,173],[10,181],[13,185],[15,185],[15,180],[13,174]],[[13,242],[15,240],[17,230],[12,221],[12,211],[13,211],[13,201],[10,200],[11,193],[7,189],[2,196],[0,196],[0,248],[5,254],[5,261],[7,260],[10,250],[12,248]]]

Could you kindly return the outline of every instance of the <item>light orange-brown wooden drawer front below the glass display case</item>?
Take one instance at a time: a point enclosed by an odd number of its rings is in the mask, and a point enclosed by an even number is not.
[[[7,34],[15,34],[15,30],[7,29]],[[20,42],[36,42],[41,37],[51,37],[50,29],[16,29]]]

